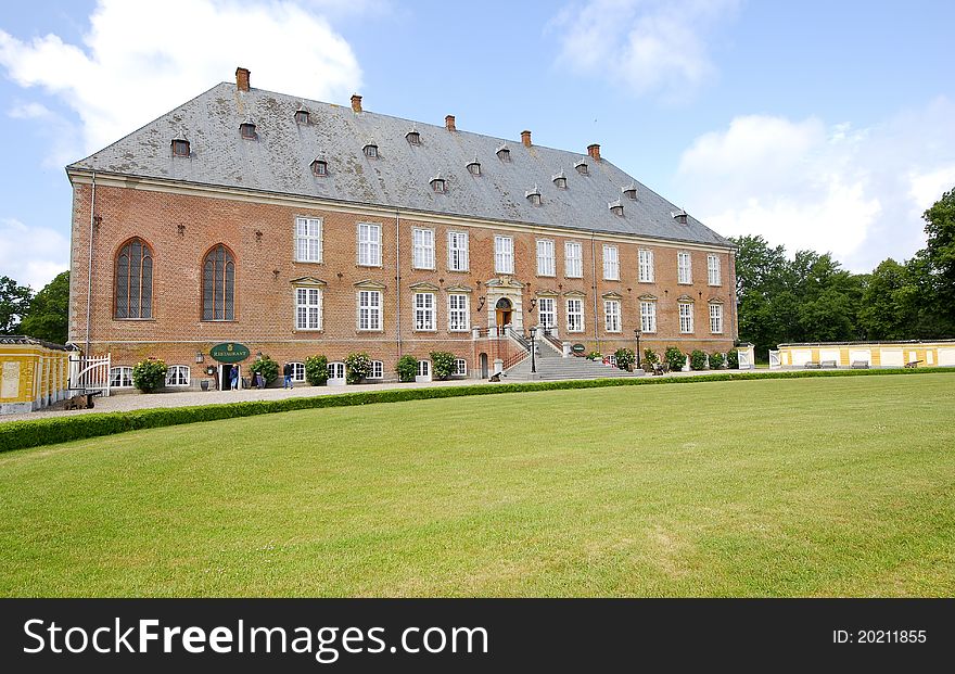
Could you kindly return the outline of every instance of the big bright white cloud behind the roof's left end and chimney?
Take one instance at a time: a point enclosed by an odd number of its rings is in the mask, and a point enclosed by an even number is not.
[[[0,65],[20,86],[39,87],[73,110],[85,152],[231,79],[238,65],[252,71],[254,87],[322,100],[344,100],[361,84],[351,46],[322,16],[291,2],[100,0],[79,46],[56,35],[25,42],[0,30]]]

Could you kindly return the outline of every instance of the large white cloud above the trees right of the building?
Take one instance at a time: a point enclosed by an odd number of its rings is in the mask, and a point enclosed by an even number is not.
[[[726,236],[831,252],[848,267],[911,257],[921,213],[955,186],[955,105],[940,99],[871,128],[750,115],[699,137],[676,177],[687,208]]]

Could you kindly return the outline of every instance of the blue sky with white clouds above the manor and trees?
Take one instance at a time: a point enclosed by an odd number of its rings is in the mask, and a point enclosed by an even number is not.
[[[233,78],[604,157],[726,236],[909,257],[955,187],[955,3],[61,1],[0,17],[0,275],[68,265],[63,166]]]

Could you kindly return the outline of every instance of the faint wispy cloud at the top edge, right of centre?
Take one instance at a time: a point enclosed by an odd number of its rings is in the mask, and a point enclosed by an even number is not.
[[[574,72],[623,82],[635,94],[690,96],[716,74],[713,29],[739,0],[590,0],[558,14],[559,61]]]

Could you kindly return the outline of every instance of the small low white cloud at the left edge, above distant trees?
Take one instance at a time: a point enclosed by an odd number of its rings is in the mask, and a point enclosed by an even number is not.
[[[69,242],[47,227],[28,227],[15,218],[0,218],[2,275],[35,291],[69,268]]]

